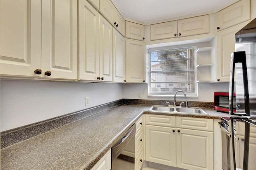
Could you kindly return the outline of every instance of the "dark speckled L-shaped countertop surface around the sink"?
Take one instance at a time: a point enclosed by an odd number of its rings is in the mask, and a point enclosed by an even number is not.
[[[204,117],[228,117],[209,108],[208,115],[150,112],[151,105],[120,105],[85,119],[1,149],[1,169],[90,169],[144,113]]]

